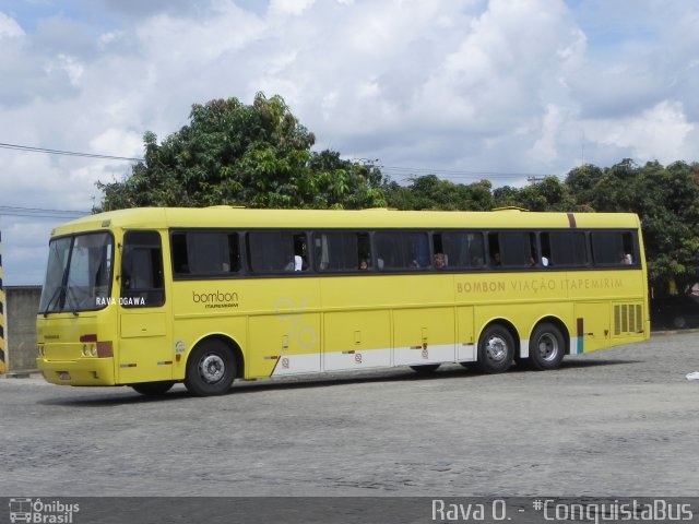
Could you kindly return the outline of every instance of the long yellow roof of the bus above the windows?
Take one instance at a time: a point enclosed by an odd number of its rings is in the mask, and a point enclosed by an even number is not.
[[[88,215],[54,229],[52,236],[71,233],[167,228],[638,228],[632,213],[537,213],[517,209],[487,212],[394,211],[371,209],[253,210],[217,205],[212,207],[134,207]]]

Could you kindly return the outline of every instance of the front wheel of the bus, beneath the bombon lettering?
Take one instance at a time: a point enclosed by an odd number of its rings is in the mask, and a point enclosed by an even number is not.
[[[222,341],[203,342],[189,355],[185,386],[194,396],[226,393],[236,376],[236,360]]]

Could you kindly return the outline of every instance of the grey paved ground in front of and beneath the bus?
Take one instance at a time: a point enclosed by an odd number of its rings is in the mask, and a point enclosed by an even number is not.
[[[0,379],[0,496],[697,495],[699,333],[567,357],[237,382],[222,397]]]

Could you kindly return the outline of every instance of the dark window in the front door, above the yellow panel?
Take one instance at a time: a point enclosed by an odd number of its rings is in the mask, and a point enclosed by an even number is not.
[[[156,231],[128,231],[121,255],[121,306],[154,308],[165,303],[163,247]]]

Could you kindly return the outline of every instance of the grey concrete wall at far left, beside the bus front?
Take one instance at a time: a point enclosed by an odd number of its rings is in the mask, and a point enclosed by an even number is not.
[[[36,369],[36,312],[42,286],[5,286],[8,373]]]

